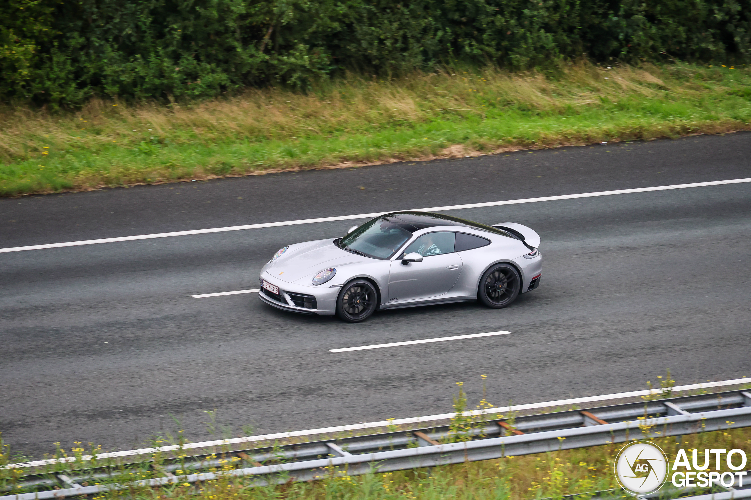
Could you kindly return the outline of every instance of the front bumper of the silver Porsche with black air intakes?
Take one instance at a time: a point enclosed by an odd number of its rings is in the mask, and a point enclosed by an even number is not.
[[[270,292],[261,286],[261,290],[258,292],[258,298],[261,301],[276,307],[277,309],[291,311],[292,313],[302,313],[318,316],[332,316],[336,314],[336,298],[339,296],[339,290],[341,286],[327,286],[324,283],[321,286],[305,286],[297,283],[285,283],[281,280],[274,280],[266,272],[261,273],[261,280],[266,280],[273,286],[279,286],[279,295],[273,296]],[[265,292],[265,293],[264,293]],[[308,302],[307,307],[300,307],[295,305],[293,298],[300,303],[299,295],[312,295],[315,297],[315,302]],[[312,308],[314,306],[315,308]]]

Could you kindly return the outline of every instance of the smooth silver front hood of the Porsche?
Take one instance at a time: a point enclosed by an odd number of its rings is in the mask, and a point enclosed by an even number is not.
[[[342,250],[331,239],[309,241],[291,246],[281,258],[266,268],[266,272],[278,280],[293,283],[327,268],[368,260],[367,257]]]

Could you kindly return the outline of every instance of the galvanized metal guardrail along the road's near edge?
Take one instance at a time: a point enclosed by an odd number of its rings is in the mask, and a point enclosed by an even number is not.
[[[449,427],[443,426],[325,442],[228,451],[222,455],[221,460],[225,463],[228,459],[235,460],[240,468],[224,472],[198,472],[179,476],[173,474],[176,471],[198,471],[221,466],[220,459],[212,454],[189,457],[189,462],[185,462],[185,459],[171,459],[151,469],[151,472],[160,473],[163,477],[127,483],[96,486],[80,484],[92,480],[113,481],[118,477],[116,466],[87,469],[86,472],[81,471],[83,475],[76,475],[75,471],[67,472],[67,475],[32,474],[24,476],[24,487],[64,488],[0,496],[0,500],[44,500],[93,495],[129,487],[209,481],[222,476],[250,477],[253,479],[252,484],[260,486],[279,484],[290,478],[294,478],[294,481],[310,481],[336,474],[360,475],[371,471],[418,469],[468,460],[491,460],[626,442],[630,439],[682,436],[737,427],[751,427],[751,393],[746,391],[674,397],[487,421],[466,433],[464,436],[472,439],[466,442],[441,444],[441,439],[450,436]],[[388,451],[383,451],[384,449]],[[263,462],[272,464],[263,465]],[[154,464],[131,464],[142,468],[152,465]]]

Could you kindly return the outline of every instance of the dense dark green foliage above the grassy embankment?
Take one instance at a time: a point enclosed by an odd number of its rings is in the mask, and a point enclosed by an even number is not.
[[[751,0],[4,0],[0,19],[0,98],[59,106],[454,60],[751,60]]]

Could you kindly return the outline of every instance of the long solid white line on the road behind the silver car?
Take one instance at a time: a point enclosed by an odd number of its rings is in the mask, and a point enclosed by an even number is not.
[[[519,203],[551,202],[556,199],[587,198],[590,196],[608,196],[611,194],[644,193],[647,191],[660,191],[668,189],[683,189],[685,187],[717,186],[719,184],[737,184],[751,182],[751,178],[731,179],[729,181],[695,182],[693,184],[674,184],[672,186],[637,187],[615,191],[598,191],[596,193],[564,194],[561,196],[543,196],[541,198],[508,199],[502,202],[469,203],[467,205],[449,205],[445,207],[411,208],[412,211],[439,211],[460,210],[462,208],[494,207],[499,205],[517,205]],[[395,211],[395,210],[392,210]],[[313,224],[319,222],[331,222],[334,220],[370,219],[389,212],[373,212],[372,214],[342,215],[339,217],[319,217],[318,219],[284,220],[282,222],[270,222],[262,224],[248,224],[247,226],[215,227],[211,229],[193,229],[191,231],[159,232],[153,235],[120,236],[118,238],[102,238],[100,240],[68,241],[67,243],[50,243],[45,245],[29,245],[28,247],[0,248],[0,253],[23,252],[24,250],[43,250],[45,248],[77,247],[80,245],[93,245],[99,243],[115,243],[116,241],[148,240],[152,238],[170,238],[171,236],[204,235],[210,232],[243,231],[244,229],[261,229],[264,227],[295,226],[297,224]]]

